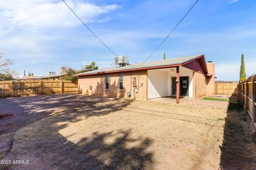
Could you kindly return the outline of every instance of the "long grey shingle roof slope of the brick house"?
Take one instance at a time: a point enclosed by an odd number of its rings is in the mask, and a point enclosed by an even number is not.
[[[107,67],[99,70],[93,70],[93,71],[75,74],[74,76],[81,76],[81,75],[88,75],[88,74],[102,74],[102,73],[118,72],[118,71],[129,71],[129,70],[135,70],[135,69],[143,70],[149,67],[151,68],[151,67],[159,67],[159,66],[181,65],[183,63],[187,63],[201,56],[203,56],[203,54],[170,58],[166,60],[156,60],[156,61],[145,62],[145,63],[136,63],[136,64],[130,64],[122,67]]]

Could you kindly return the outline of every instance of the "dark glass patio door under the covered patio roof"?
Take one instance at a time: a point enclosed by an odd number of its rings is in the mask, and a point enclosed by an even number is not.
[[[188,77],[180,77],[180,96],[188,96]],[[176,78],[172,78],[172,95],[176,95]]]

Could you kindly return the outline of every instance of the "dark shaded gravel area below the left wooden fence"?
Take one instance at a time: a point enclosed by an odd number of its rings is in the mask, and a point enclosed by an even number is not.
[[[7,134],[33,123],[47,115],[76,107],[89,106],[113,100],[108,97],[77,94],[41,95],[0,99],[0,114],[15,114],[1,119],[0,132]]]

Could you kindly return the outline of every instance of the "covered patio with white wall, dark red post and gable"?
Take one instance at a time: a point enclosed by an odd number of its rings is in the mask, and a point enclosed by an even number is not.
[[[195,74],[199,75],[195,78]],[[148,70],[148,99],[175,97],[179,104],[182,97],[197,98],[205,95],[211,77],[203,55],[179,65]],[[201,94],[196,94],[197,91]]]

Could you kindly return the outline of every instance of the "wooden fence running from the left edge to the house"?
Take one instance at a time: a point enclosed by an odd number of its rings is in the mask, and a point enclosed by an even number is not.
[[[66,93],[78,93],[78,83],[68,80],[0,81],[0,98]]]

